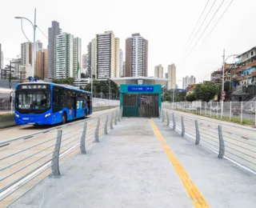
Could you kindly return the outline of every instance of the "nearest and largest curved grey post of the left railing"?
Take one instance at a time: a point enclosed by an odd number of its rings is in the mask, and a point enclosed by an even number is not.
[[[54,148],[54,154],[51,160],[51,171],[53,173],[53,176],[56,178],[61,176],[61,173],[59,172],[59,164],[58,164],[59,150],[61,149],[61,143],[62,143],[62,130],[58,130],[56,144]]]

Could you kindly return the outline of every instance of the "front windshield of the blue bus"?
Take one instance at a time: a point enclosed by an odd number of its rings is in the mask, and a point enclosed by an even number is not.
[[[50,91],[17,91],[16,108],[22,110],[46,110],[50,108]]]

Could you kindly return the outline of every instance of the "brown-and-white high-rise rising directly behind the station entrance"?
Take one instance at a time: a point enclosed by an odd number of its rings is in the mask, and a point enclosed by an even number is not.
[[[126,77],[147,77],[148,41],[140,34],[126,39]]]

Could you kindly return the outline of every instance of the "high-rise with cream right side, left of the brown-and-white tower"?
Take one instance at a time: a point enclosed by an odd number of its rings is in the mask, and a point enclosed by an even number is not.
[[[95,41],[97,45],[96,78],[102,80],[118,78],[119,38],[114,38],[113,31],[106,31],[104,34],[97,34]],[[93,44],[92,48],[94,48]]]

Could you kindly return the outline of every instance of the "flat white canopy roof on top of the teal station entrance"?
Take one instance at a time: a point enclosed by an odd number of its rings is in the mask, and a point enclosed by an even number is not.
[[[128,77],[128,78],[111,78],[118,86],[120,85],[165,85],[168,78],[154,77]]]

